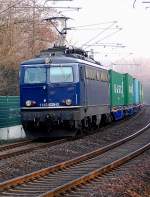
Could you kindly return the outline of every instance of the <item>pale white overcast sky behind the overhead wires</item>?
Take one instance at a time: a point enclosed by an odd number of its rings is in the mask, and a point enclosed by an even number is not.
[[[68,27],[99,24],[84,30],[77,28],[68,31],[67,40],[77,47],[97,36],[88,44],[98,42],[103,45],[124,47],[83,46],[84,49],[95,51],[95,59],[100,61],[116,61],[119,58],[150,57],[150,4],[137,0],[73,0],[69,2],[51,3],[54,6],[76,6],[80,11],[63,11],[71,17]],[[113,23],[114,22],[114,23]],[[107,29],[104,31],[104,29]],[[114,33],[116,32],[116,33]],[[111,35],[111,36],[109,36]]]

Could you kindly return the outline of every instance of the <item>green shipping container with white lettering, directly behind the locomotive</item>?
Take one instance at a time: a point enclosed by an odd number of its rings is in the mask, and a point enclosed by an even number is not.
[[[111,106],[124,105],[124,76],[121,73],[109,70],[110,78],[110,102]]]

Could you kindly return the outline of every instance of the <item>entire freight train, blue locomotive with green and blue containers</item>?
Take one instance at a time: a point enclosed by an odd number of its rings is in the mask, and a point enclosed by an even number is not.
[[[21,121],[28,138],[76,136],[143,104],[140,81],[107,70],[81,49],[54,47],[20,65]]]

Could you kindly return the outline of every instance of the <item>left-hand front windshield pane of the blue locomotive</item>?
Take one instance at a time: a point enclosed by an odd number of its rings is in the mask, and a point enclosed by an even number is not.
[[[25,69],[24,83],[45,83],[46,82],[46,68],[29,67]]]

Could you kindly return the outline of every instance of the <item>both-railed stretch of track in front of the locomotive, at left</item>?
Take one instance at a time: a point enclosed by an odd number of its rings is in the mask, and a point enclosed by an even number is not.
[[[28,153],[28,152],[31,152],[33,150],[37,150],[40,148],[55,146],[57,144],[61,144],[66,141],[67,139],[60,139],[60,140],[55,140],[55,141],[51,141],[48,143],[37,143],[32,140],[28,140],[28,141],[23,141],[23,142],[18,142],[18,143],[12,143],[9,145],[3,145],[3,146],[0,146],[0,160],[7,159],[9,157],[13,157],[17,155],[21,155],[24,153]]]

